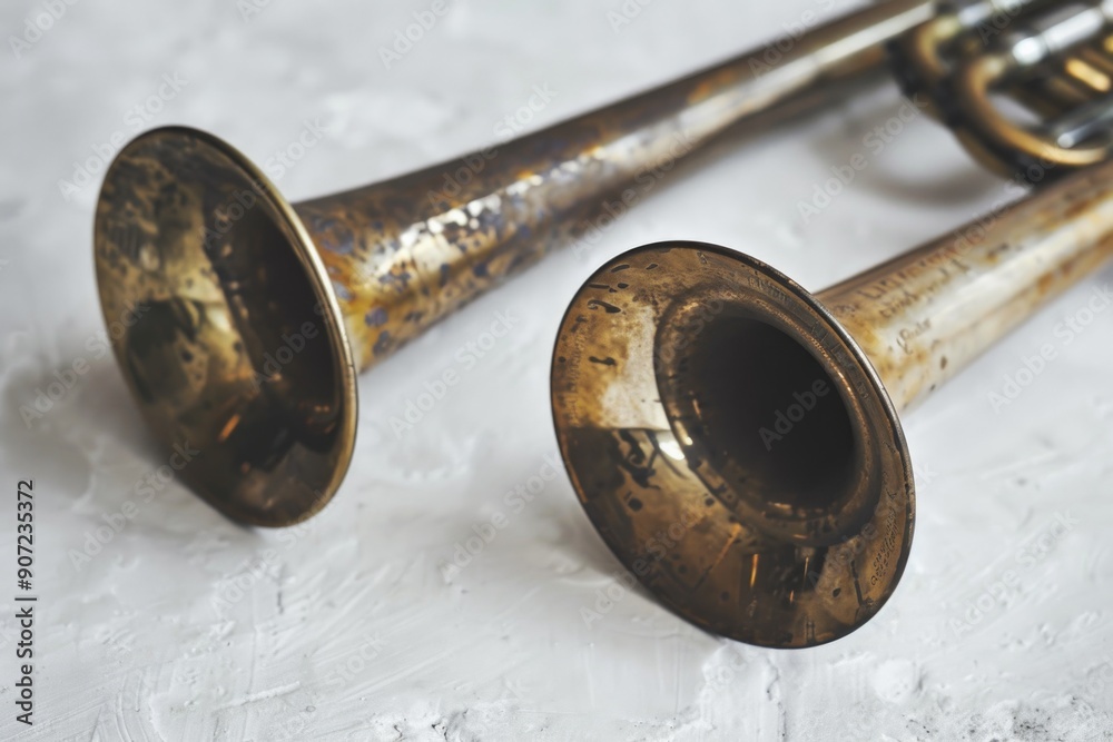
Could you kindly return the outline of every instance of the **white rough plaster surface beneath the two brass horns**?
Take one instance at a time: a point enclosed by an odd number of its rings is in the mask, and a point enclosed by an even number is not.
[[[642,0],[643,2],[646,0]],[[244,4],[243,2],[240,3]],[[265,4],[262,1],[259,4]],[[706,635],[643,592],[590,627],[581,607],[618,562],[563,474],[520,513],[504,495],[555,452],[549,353],[572,291],[629,247],[730,245],[820,288],[1003,197],[918,118],[874,155],[892,86],[759,141],[735,138],[669,176],[587,255],[560,254],[364,377],[358,451],[334,503],[296,531],[229,524],[171,484],[101,330],[91,259],[99,187],[60,180],[164,73],[188,85],[149,123],[215,131],[265,161],[306,118],[331,135],[280,179],[292,198],[403,172],[492,142],[535,85],[553,122],[761,43],[843,2],[648,2],[615,33],[600,2],[450,1],[392,69],[378,48],[426,9],[405,2],[78,0],[17,60],[0,51],[0,738],[36,740],[1090,740],[1113,728],[1113,309],[1066,345],[1056,325],[1094,276],[906,423],[918,476],[912,560],[895,597],[833,645],[774,652]],[[40,0],[11,0],[4,36]],[[804,224],[828,168],[870,167]],[[494,313],[513,332],[413,431],[388,419]],[[90,338],[93,338],[90,340]],[[1057,358],[1012,404],[987,395],[1023,358]],[[57,369],[90,370],[43,415]],[[35,479],[38,721],[13,721],[14,488]],[[138,514],[108,543],[105,516]],[[510,525],[459,574],[473,525]],[[1057,517],[1071,523],[1055,537]],[[101,531],[101,535],[104,535]],[[99,547],[99,548],[98,548]],[[76,554],[97,552],[89,560]],[[998,597],[987,587],[1013,571]],[[976,624],[966,616],[981,597]]]

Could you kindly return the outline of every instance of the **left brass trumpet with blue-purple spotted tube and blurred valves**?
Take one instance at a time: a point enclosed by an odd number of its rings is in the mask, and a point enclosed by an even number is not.
[[[106,320],[139,316],[114,335],[116,357],[155,437],[203,452],[184,482],[236,521],[297,523],[347,471],[357,369],[538,260],[640,172],[740,122],[816,106],[880,69],[886,47],[908,32],[920,36],[897,44],[902,80],[982,157],[1004,170],[1043,158],[1056,172],[1091,161],[1107,146],[1103,111],[1092,110],[1100,91],[1068,62],[1105,59],[1105,6],[1082,3],[1072,18],[1084,22],[1048,21],[1018,39],[976,33],[998,16],[1040,19],[1051,4],[869,7],[794,39],[772,63],[765,50],[741,55],[511,141],[496,157],[474,154],[482,174],[452,194],[442,187],[455,162],[290,205],[210,135],[144,133],[112,162],[97,205]],[[1008,51],[1018,44],[1024,56]],[[972,78],[983,55],[997,62]],[[958,85],[967,78],[977,85]],[[1040,98],[1040,80],[1057,80],[1060,97],[1035,123],[977,99],[995,117],[983,126],[948,102],[953,86]]]

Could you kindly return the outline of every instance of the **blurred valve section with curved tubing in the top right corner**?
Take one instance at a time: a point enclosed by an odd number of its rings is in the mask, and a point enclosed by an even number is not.
[[[893,43],[908,95],[983,164],[1030,182],[1113,147],[1113,2],[959,0]],[[1009,105],[1011,103],[1011,105]]]

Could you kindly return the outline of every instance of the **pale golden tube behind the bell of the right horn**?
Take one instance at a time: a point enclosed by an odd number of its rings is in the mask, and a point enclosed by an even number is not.
[[[919,404],[1034,308],[1105,263],[1113,198],[1102,166],[817,295],[897,410]]]

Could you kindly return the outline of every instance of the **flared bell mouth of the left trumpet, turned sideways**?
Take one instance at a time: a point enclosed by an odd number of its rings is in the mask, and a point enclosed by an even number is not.
[[[203,131],[145,132],[106,174],[93,247],[111,345],[170,478],[253,525],[324,507],[355,445],[355,366],[325,266],[266,176]]]

